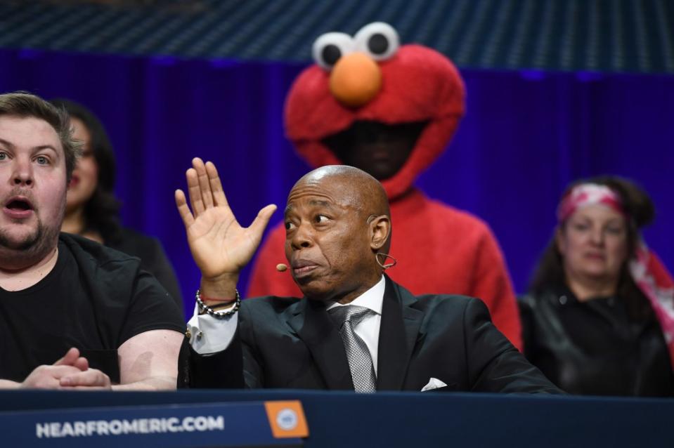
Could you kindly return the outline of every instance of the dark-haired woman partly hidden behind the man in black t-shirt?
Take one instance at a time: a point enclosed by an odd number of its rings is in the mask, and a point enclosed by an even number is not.
[[[160,242],[122,226],[115,197],[115,153],[101,121],[83,105],[51,100],[70,114],[73,136],[82,142],[82,157],[72,172],[61,230],[82,235],[141,259],[183,310],[178,280]]]

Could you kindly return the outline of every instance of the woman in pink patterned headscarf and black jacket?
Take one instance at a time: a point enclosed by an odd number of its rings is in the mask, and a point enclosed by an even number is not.
[[[520,300],[524,354],[584,395],[674,395],[674,282],[640,228],[655,215],[629,180],[574,183]]]

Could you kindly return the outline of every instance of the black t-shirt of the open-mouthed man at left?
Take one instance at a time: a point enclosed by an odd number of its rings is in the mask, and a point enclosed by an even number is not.
[[[51,272],[22,291],[0,288],[0,378],[23,381],[76,347],[119,382],[117,348],[144,331],[183,331],[174,300],[138,258],[61,234]]]

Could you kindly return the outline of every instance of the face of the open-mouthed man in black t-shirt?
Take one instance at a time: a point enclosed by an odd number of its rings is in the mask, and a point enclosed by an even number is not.
[[[0,249],[48,250],[65,209],[65,155],[46,121],[0,115]]]

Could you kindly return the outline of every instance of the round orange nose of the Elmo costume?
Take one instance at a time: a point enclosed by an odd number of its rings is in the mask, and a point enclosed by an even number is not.
[[[365,53],[350,53],[332,67],[330,92],[347,107],[368,103],[381,88],[382,70]]]

